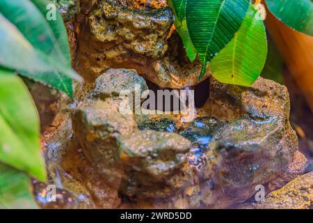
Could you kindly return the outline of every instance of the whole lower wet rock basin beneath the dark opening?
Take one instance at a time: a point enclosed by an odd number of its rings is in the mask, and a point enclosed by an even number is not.
[[[125,72],[132,72],[131,81],[120,78]],[[182,123],[179,115],[121,114],[122,99],[111,89],[134,89],[141,79],[124,69],[104,75],[106,81],[91,92],[106,96],[100,100],[90,93],[72,107],[72,139],[85,161],[65,168],[74,176],[89,173],[81,182],[93,200],[102,202],[98,206],[112,207],[105,200],[118,206],[120,194],[136,201],[134,207],[148,202],[154,208],[225,208],[252,197],[257,185],[271,192],[305,171],[284,86],[262,78],[250,88],[211,79],[198,118]],[[223,116],[217,104],[232,113]]]

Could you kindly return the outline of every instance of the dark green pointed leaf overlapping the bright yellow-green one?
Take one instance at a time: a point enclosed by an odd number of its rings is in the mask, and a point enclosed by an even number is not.
[[[189,35],[202,63],[200,78],[207,63],[234,37],[248,6],[248,0],[186,0]]]

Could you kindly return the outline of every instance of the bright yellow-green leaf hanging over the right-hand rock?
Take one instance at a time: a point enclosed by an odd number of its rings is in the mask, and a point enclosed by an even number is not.
[[[250,86],[262,72],[266,55],[264,22],[250,6],[232,41],[211,61],[212,75],[225,84]]]

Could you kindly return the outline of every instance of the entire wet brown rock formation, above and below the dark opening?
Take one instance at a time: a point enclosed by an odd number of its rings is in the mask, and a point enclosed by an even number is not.
[[[188,62],[177,33],[168,35],[169,8],[80,2],[74,63],[87,83],[76,90],[71,118],[42,141],[48,162],[63,173],[49,174],[51,182],[61,180],[74,200],[83,191],[97,208],[122,201],[134,208],[226,208],[253,197],[257,185],[271,192],[303,174],[307,160],[289,125],[287,89],[266,79],[241,87],[211,77],[209,99],[191,123],[181,114],[121,114],[118,95],[134,92],[135,84],[147,89],[142,77],[182,89],[198,84],[200,63]],[[62,202],[77,207],[67,197]]]

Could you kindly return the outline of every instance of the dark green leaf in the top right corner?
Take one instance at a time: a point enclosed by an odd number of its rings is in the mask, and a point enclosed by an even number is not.
[[[287,26],[313,36],[312,0],[266,0],[266,5]]]

